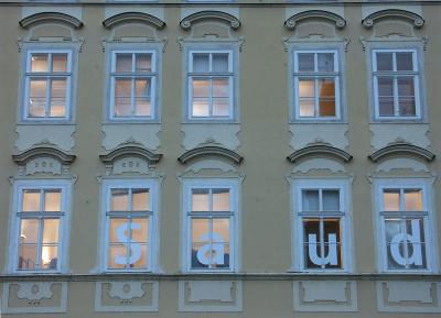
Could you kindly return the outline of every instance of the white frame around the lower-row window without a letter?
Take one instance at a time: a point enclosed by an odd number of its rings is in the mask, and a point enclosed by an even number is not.
[[[23,191],[26,189],[34,190],[49,190],[49,189],[61,189],[62,191],[62,215],[60,215],[60,230],[58,230],[58,251],[57,251],[57,264],[55,270],[19,270],[19,240],[20,237],[20,221],[19,210],[21,209],[21,204],[23,201]],[[63,179],[32,179],[32,180],[15,180],[13,184],[12,193],[12,209],[11,209],[11,221],[10,221],[10,248],[9,248],[9,262],[8,270],[10,273],[14,274],[56,274],[66,273],[68,271],[68,232],[69,232],[69,219],[71,219],[71,191],[72,183],[69,180]],[[49,212],[51,213],[51,212]],[[35,217],[33,219],[41,219],[41,217]],[[37,244],[40,245],[40,239]],[[36,255],[39,257],[39,255]]]

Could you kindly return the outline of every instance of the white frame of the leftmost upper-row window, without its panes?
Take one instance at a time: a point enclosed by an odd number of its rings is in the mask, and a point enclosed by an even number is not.
[[[32,73],[31,72],[31,57],[32,54],[67,54],[67,72],[65,73],[44,73],[44,74],[39,74],[39,73]],[[52,63],[52,58],[47,61],[47,65]],[[29,97],[30,97],[30,78],[31,77],[40,77],[40,78],[54,78],[57,76],[66,77],[66,108],[65,108],[65,117],[50,117],[47,116],[49,111],[49,105],[51,102],[51,86],[46,86],[46,107],[45,107],[45,117],[30,117],[29,116]],[[37,50],[37,48],[30,48],[25,53],[25,69],[24,69],[24,94],[23,94],[23,100],[22,100],[22,120],[23,121],[66,121],[71,120],[72,117],[72,90],[73,90],[73,80],[74,80],[74,72],[73,72],[73,50],[72,48],[60,48],[60,50]]]

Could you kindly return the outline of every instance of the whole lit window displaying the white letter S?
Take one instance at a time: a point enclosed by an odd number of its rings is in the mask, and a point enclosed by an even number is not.
[[[151,271],[155,191],[154,182],[106,182],[107,271]]]

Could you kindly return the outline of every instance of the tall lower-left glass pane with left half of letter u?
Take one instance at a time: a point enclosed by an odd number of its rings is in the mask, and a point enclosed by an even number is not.
[[[303,220],[304,266],[318,268],[321,266],[320,221],[319,219]]]

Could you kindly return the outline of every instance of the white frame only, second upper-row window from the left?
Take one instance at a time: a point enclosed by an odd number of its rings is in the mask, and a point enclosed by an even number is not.
[[[133,73],[132,75],[118,75],[116,73],[116,55],[117,54],[151,54],[151,73],[146,73],[146,74],[137,74]],[[108,118],[111,121],[146,121],[146,120],[155,120],[158,118],[157,111],[158,111],[158,105],[157,105],[157,85],[158,85],[158,78],[159,78],[159,70],[158,70],[158,65],[157,65],[157,58],[158,54],[155,50],[112,50],[110,52],[110,69],[109,69],[109,97],[108,97]],[[132,67],[133,64],[136,63],[135,59],[132,59]],[[150,109],[151,109],[151,116],[127,116],[127,117],[117,117],[115,116],[115,78],[116,77],[127,77],[127,78],[143,78],[143,77],[149,77],[151,78],[151,96],[150,96]],[[135,87],[132,85],[131,87],[131,107],[133,107],[133,99],[135,99]]]

